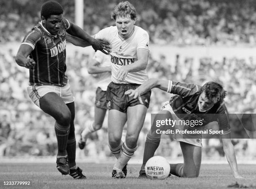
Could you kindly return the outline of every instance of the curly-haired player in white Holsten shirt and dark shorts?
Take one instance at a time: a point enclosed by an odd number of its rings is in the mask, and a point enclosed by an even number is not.
[[[137,141],[143,127],[151,91],[142,95],[143,105],[124,93],[136,89],[148,80],[146,67],[149,56],[149,36],[135,25],[136,9],[128,2],[120,2],[112,12],[116,26],[100,30],[95,39],[110,43],[112,82],[108,85],[108,140],[111,152],[118,159],[112,177],[125,178],[126,164],[137,149]],[[127,121],[125,141],[121,141],[123,126]]]

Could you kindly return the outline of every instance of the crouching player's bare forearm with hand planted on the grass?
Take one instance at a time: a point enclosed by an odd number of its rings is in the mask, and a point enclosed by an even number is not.
[[[227,135],[221,135],[222,142],[223,142],[223,150],[225,152],[225,155],[226,155],[226,158],[228,160],[228,164],[231,168],[233,176],[236,179],[243,179],[243,177],[241,177],[238,174],[238,168],[237,168],[236,154],[235,154],[234,146],[231,142],[230,134],[228,134],[228,135],[229,135],[229,137],[227,137]]]

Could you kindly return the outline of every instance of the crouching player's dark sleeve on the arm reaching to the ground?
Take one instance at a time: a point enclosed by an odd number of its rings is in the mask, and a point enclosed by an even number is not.
[[[219,124],[219,130],[223,131],[221,135],[229,134],[231,130],[230,130],[230,124],[229,124],[228,110],[224,102],[220,104],[220,107],[218,108],[216,114],[217,114],[217,122]]]

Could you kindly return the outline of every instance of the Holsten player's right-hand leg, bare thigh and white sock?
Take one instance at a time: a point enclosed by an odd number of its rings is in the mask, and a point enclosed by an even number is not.
[[[137,149],[138,137],[144,124],[147,107],[137,104],[127,109],[127,133],[121,147],[120,157],[114,169],[122,170]]]

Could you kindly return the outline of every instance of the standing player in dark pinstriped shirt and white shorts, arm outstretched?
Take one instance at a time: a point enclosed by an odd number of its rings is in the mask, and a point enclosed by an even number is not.
[[[95,40],[65,19],[58,2],[48,1],[41,7],[41,21],[24,37],[15,61],[29,69],[29,97],[56,120],[57,169],[74,179],[85,179],[82,169],[75,162],[74,97],[65,75],[66,32],[87,42],[83,46],[92,45],[102,52],[111,48],[108,43]]]

